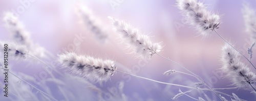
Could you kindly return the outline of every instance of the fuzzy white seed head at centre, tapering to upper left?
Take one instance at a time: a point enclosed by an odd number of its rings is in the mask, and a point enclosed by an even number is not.
[[[162,47],[159,43],[152,43],[150,37],[143,35],[138,28],[133,28],[126,22],[109,17],[114,25],[114,30],[119,34],[127,47],[132,49],[131,53],[141,59],[151,58],[155,53],[160,52]]]

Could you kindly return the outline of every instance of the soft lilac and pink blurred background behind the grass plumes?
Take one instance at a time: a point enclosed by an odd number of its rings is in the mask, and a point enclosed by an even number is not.
[[[245,1],[203,1],[207,4],[208,10],[212,13],[221,15],[221,24],[218,32],[226,40],[233,44],[244,53],[246,56],[247,48],[251,45],[250,35],[245,32],[243,14],[241,12],[242,4]],[[246,1],[256,10],[256,1]],[[95,37],[95,33],[90,29],[88,23],[84,23],[83,16],[79,12],[79,7],[86,7],[91,11],[93,21],[97,22],[102,32],[108,38],[105,41]],[[179,68],[178,65],[169,62],[158,55],[154,55],[151,60],[136,59],[133,54],[127,54],[129,51],[125,49],[124,44],[120,44],[116,33],[113,31],[113,26],[108,16],[119,18],[130,23],[134,27],[138,27],[142,33],[152,36],[153,42],[162,42],[163,51],[159,52],[162,56],[180,63],[188,70],[202,77],[207,84],[212,88],[225,88],[231,83],[223,78],[225,74],[220,72],[221,68],[221,49],[225,44],[215,32],[209,38],[203,39],[199,33],[195,31],[193,26],[185,24],[182,20],[180,10],[176,7],[176,1],[167,0],[151,0],[151,1],[135,1],[135,0],[85,0],[85,1],[50,1],[50,0],[1,0],[0,1],[0,18],[3,19],[5,12],[13,12],[18,19],[24,24],[26,30],[30,33],[31,40],[44,47],[45,50],[54,56],[41,58],[47,63],[52,63],[56,60],[57,54],[63,49],[75,50],[77,53],[84,53],[100,58],[109,58],[115,60],[122,67],[118,67],[120,71],[132,71],[132,73],[158,80],[187,86],[194,86],[197,79],[183,75],[172,74],[169,76],[163,75],[167,70],[176,70],[186,72]],[[0,40],[11,40],[8,30],[4,27],[4,21],[0,22]],[[74,46],[74,40],[80,38],[80,44]],[[74,46],[74,47],[73,47]],[[255,50],[255,48],[254,48]],[[249,63],[241,57],[243,61]],[[252,62],[255,64],[255,55],[252,57]],[[53,63],[54,64],[54,63]],[[40,75],[43,64],[40,62],[31,62],[23,60],[11,60],[9,63],[11,71],[17,75],[27,74],[31,77]],[[60,73],[65,73],[60,67],[54,64]],[[253,68],[251,68],[253,69]],[[254,71],[254,69],[253,69]],[[72,89],[70,93],[75,94],[77,100],[98,100],[94,90],[87,88],[86,85],[73,86],[69,85],[71,80],[61,78],[54,73],[56,78],[65,83],[62,88]],[[2,73],[1,73],[2,78]],[[46,77],[50,78],[50,76]],[[38,80],[40,82],[41,79]],[[86,79],[83,79],[86,81]],[[3,80],[1,79],[3,83]],[[90,81],[89,81],[90,82]],[[123,91],[120,91],[120,82],[123,85]],[[77,83],[74,81],[73,83]],[[152,81],[147,81],[115,73],[111,76],[111,80],[107,82],[94,83],[96,87],[104,91],[102,97],[105,100],[122,100],[122,94],[127,97],[127,100],[173,100],[172,98],[179,93],[179,89],[183,92],[189,90],[187,88],[168,86]],[[18,84],[18,83],[17,83]],[[25,83],[24,83],[25,84]],[[44,90],[38,84],[33,83],[36,87]],[[10,84],[16,85],[15,83]],[[85,88],[78,88],[84,86]],[[255,85],[254,85],[255,86]],[[58,100],[65,100],[61,94],[55,92],[54,84],[47,84],[47,87],[53,92],[52,95]],[[249,87],[248,87],[249,88]],[[11,90],[12,88],[10,88]],[[76,90],[79,90],[76,92]],[[118,90],[119,89],[119,90]],[[0,90],[0,99],[6,99],[3,96],[2,89]],[[13,90],[14,91],[14,90]],[[45,91],[45,90],[44,90]],[[240,98],[245,100],[255,100],[256,96],[248,90],[230,89],[220,90],[232,95],[236,93]],[[33,90],[32,92],[36,92]],[[69,92],[69,91],[67,91]],[[118,94],[117,94],[118,93]],[[220,100],[214,93],[205,91],[210,99]],[[36,93],[37,94],[37,93]],[[194,90],[187,93],[195,98],[203,97],[204,94],[199,90]],[[38,94],[39,95],[39,94]],[[9,93],[9,96],[13,95]],[[119,97],[116,97],[119,96]],[[224,96],[224,95],[222,95]],[[15,97],[15,96],[13,96]],[[225,96],[230,99],[228,96]],[[83,99],[86,98],[86,99]],[[113,99],[111,99],[113,98]],[[120,99],[118,99],[120,98]],[[14,98],[15,99],[15,98]],[[17,98],[17,100],[19,100]],[[70,98],[69,100],[73,100]],[[181,96],[176,100],[194,100],[188,96]]]

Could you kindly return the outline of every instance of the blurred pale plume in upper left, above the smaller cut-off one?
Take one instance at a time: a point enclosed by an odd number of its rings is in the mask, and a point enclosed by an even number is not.
[[[8,29],[14,41],[22,45],[26,45],[34,56],[45,57],[45,48],[42,48],[32,42],[30,33],[13,13],[5,13],[3,20],[5,22],[5,27]]]

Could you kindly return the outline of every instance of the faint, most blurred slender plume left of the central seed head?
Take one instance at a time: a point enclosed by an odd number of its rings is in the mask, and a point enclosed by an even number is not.
[[[84,6],[80,6],[78,12],[83,23],[87,25],[87,29],[94,33],[95,37],[99,41],[105,42],[105,40],[108,38],[108,34],[102,28],[103,26],[100,25],[99,19],[97,19],[92,12]]]

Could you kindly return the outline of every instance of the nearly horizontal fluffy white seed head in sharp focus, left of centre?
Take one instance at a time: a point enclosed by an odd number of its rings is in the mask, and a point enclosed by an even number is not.
[[[110,75],[113,75],[116,70],[112,60],[77,55],[74,52],[59,54],[57,62],[72,74],[96,81],[108,81]]]

